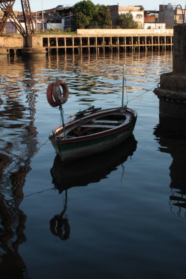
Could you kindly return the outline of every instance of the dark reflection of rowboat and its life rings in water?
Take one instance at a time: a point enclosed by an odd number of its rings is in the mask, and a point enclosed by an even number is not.
[[[107,178],[117,166],[122,165],[129,156],[132,156],[137,147],[137,141],[131,135],[122,145],[107,152],[73,161],[68,164],[61,164],[59,155],[55,157],[51,168],[52,183],[59,194],[65,191],[65,202],[63,211],[55,215],[50,221],[51,233],[67,240],[70,236],[70,225],[67,215],[67,190],[76,186],[87,186],[90,183],[99,182]],[[123,172],[124,172],[124,166]],[[122,178],[123,174],[121,174]]]

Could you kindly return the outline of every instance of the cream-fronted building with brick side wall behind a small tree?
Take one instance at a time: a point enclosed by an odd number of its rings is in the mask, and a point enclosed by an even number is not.
[[[143,6],[122,7],[119,5],[111,5],[111,6],[109,6],[109,11],[110,11],[110,15],[111,15],[112,25],[117,25],[116,22],[117,22],[118,15],[131,12],[131,14],[133,15],[133,20],[135,22],[137,22],[139,28],[144,27]]]

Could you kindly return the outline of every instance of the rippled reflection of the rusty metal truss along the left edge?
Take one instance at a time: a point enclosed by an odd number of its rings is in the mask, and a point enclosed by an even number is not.
[[[1,278],[28,278],[24,260],[18,252],[19,245],[26,240],[23,232],[26,215],[19,206],[31,158],[37,151],[37,131],[34,127],[37,95],[32,89],[33,70],[33,65],[28,63],[23,69],[16,69],[14,64],[14,73],[0,75]],[[26,73],[24,80],[19,78],[20,71]],[[21,73],[21,76],[24,74]]]

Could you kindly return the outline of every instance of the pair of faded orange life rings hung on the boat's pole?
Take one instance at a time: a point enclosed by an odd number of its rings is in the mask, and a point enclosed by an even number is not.
[[[60,85],[63,89],[63,96],[61,95]],[[52,82],[47,87],[47,101],[51,107],[57,107],[60,104],[66,103],[69,96],[69,89],[66,82],[58,79]]]

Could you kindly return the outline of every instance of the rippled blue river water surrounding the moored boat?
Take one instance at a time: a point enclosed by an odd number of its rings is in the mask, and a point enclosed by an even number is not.
[[[67,121],[121,104],[124,63],[134,137],[62,167],[47,141],[60,124],[47,85],[67,82]],[[1,278],[185,276],[186,141],[159,125],[153,93],[171,71],[172,52],[1,60]]]

